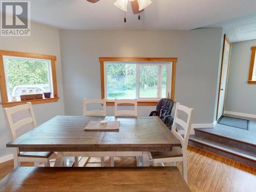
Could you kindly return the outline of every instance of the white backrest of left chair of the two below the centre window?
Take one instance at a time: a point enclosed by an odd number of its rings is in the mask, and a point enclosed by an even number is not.
[[[103,104],[103,110],[87,110],[87,104],[90,103],[99,103]],[[83,99],[83,115],[89,116],[106,116],[106,100],[105,99]]]

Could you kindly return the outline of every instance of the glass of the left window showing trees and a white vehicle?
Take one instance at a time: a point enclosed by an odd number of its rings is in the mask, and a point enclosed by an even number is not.
[[[22,94],[51,92],[47,60],[4,57],[8,100]],[[53,95],[53,94],[52,94]]]

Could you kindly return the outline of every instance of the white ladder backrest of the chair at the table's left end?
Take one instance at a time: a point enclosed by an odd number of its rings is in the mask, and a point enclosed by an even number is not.
[[[36,127],[36,121],[35,121],[35,116],[34,116],[31,102],[27,102],[26,104],[22,104],[22,105],[13,106],[12,108],[5,108],[4,110],[6,113],[7,124],[9,127],[9,131],[11,133],[12,139],[17,138],[16,130],[22,126],[31,123],[33,128]],[[17,112],[26,111],[26,110],[29,112],[29,117],[13,123],[12,115]]]

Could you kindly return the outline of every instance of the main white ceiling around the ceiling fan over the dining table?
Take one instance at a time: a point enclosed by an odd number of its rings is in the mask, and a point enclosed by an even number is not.
[[[129,4],[127,23],[115,0],[33,0],[31,19],[60,29],[190,30],[256,13],[255,0],[152,0],[141,15]]]

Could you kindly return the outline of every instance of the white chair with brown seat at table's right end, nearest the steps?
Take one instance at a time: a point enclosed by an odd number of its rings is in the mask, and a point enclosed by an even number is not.
[[[186,122],[178,118],[179,112],[182,111],[187,114]],[[173,162],[173,165],[176,165],[176,162],[182,162],[182,175],[184,180],[187,181],[187,143],[189,138],[189,133],[191,130],[191,113],[193,109],[187,108],[187,106],[181,105],[180,103],[176,104],[176,110],[174,115],[174,123],[171,132],[174,136],[179,139],[182,147],[173,147],[172,152],[151,152],[153,158],[154,166],[157,163]],[[183,127],[185,130],[184,138],[176,131],[177,124]]]

